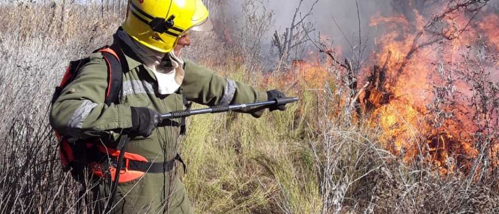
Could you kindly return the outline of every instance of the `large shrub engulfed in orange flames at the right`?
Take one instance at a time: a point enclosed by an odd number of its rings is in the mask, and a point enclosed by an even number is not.
[[[380,52],[370,60],[375,65],[364,68],[369,84],[362,107],[383,130],[385,147],[405,162],[421,159],[443,174],[469,172],[482,150],[489,151],[487,157],[497,153],[492,147],[497,139],[493,109],[498,78],[491,72],[498,70],[490,52],[497,52],[498,44],[473,36],[496,34],[491,26],[499,24],[497,16],[479,15],[487,3],[434,2],[430,7],[413,5],[412,15],[372,18],[370,25],[384,26],[387,33],[376,40]],[[423,14],[430,12],[437,15],[425,23]],[[452,74],[443,71],[446,67],[453,67]],[[436,82],[443,85],[430,85]]]

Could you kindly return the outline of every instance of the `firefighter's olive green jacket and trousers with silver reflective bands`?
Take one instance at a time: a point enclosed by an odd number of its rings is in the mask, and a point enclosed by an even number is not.
[[[133,54],[125,52],[125,56],[126,62],[122,63],[128,63],[129,71],[123,73],[120,104],[107,106],[104,103],[107,65],[100,53],[93,53],[90,62],[81,68],[52,105],[50,123],[55,130],[72,137],[112,142],[119,138],[122,130],[132,126],[130,107],[148,107],[160,113],[182,110],[185,109],[182,93],[188,101],[208,106],[267,100],[265,92],[221,77],[189,60],[185,61],[185,78],[177,93],[160,95],[152,71]],[[149,162],[174,159],[179,150],[180,118],[164,124],[151,136],[133,138],[125,146],[126,151],[139,154]],[[119,184],[115,212],[192,213],[185,187],[172,171],[146,173],[140,179]],[[105,189],[105,182],[101,182],[101,188]],[[105,190],[99,194],[107,197],[103,192]]]

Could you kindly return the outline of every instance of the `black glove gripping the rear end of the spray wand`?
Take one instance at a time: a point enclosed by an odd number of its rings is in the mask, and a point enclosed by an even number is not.
[[[151,135],[160,122],[160,114],[147,107],[131,107],[131,110],[132,127],[128,131],[143,137]]]

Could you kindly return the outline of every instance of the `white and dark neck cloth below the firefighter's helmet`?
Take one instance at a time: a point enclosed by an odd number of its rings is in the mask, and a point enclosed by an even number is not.
[[[154,73],[158,82],[159,94],[173,94],[180,88],[185,76],[184,60],[181,57],[177,57],[174,51],[165,55],[165,53],[150,49],[132,39],[125,31],[120,30],[117,34],[142,60],[144,65]],[[165,65],[166,63],[163,62],[165,56],[169,57],[172,62],[171,66]]]

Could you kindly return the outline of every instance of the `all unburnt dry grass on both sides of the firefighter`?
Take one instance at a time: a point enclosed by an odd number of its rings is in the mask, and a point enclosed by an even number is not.
[[[46,18],[61,17],[60,4],[0,4],[0,213],[75,213],[82,200],[61,171],[47,111],[67,62],[109,44],[119,25],[119,15],[105,11],[102,18],[100,9],[68,4],[61,20]],[[237,48],[217,38],[195,34],[201,45],[186,54],[233,79],[263,82],[247,75],[258,72],[244,61],[226,63],[239,59]],[[197,213],[497,212],[487,179],[443,177],[380,148],[380,131],[350,115],[342,102],[349,92],[336,81],[340,72],[328,69],[331,79],[321,90],[299,81],[286,87],[300,103],[285,112],[189,119],[182,178]]]

